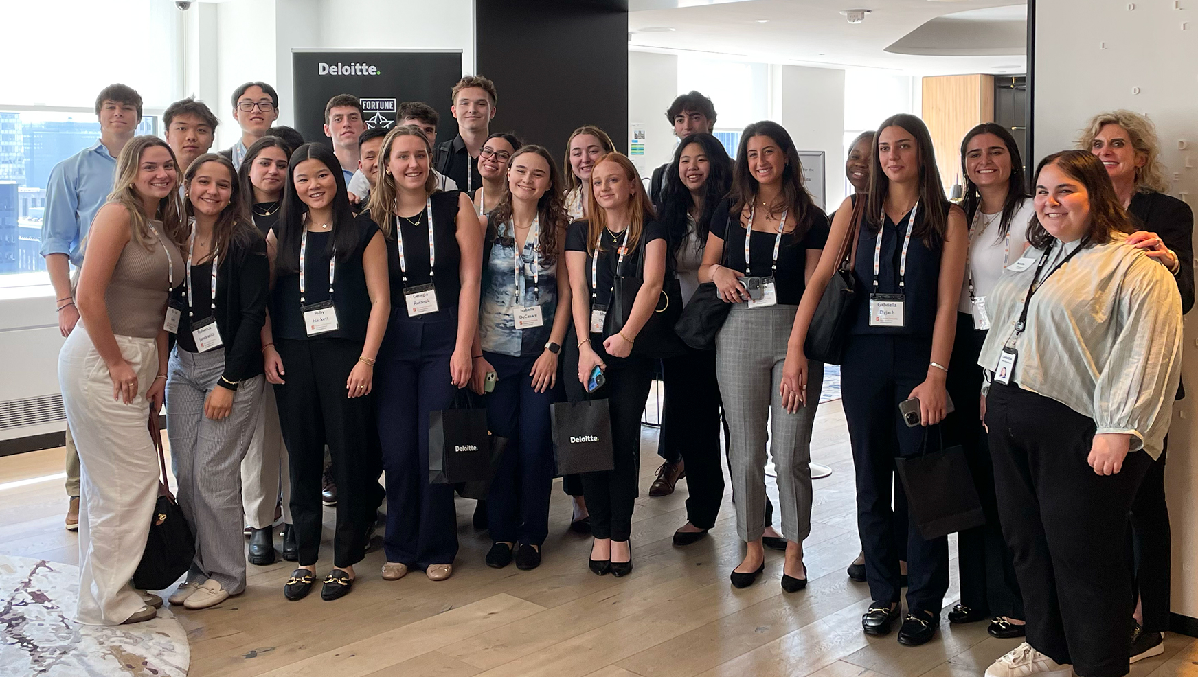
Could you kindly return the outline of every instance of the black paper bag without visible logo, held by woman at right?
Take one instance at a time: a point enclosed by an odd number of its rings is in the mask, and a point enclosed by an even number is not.
[[[898,478],[907,490],[910,518],[925,540],[986,524],[964,449],[960,445],[945,447],[942,427],[934,428],[940,451],[928,453],[931,435],[925,428],[919,455],[895,459]]]

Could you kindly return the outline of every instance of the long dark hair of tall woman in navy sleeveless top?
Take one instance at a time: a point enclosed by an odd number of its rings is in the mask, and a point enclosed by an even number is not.
[[[939,242],[944,241],[944,232],[949,228],[949,208],[952,205],[944,197],[940,170],[936,167],[936,147],[932,145],[932,135],[927,132],[927,126],[924,125],[922,120],[907,113],[887,117],[878,126],[877,134],[873,137],[870,192],[865,197],[865,223],[870,232],[877,235],[887,218],[885,200],[890,193],[890,177],[882,170],[882,161],[878,157],[878,143],[887,127],[902,127],[915,138],[915,147],[919,151],[919,205],[924,213],[924,222],[922,224],[910,224],[910,234],[921,238],[927,247],[938,246]]]

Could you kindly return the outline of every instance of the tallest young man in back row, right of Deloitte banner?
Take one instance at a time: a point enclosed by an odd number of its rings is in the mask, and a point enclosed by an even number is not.
[[[491,133],[497,101],[495,83],[483,75],[466,75],[453,86],[450,110],[458,121],[458,135],[437,146],[436,169],[467,192],[483,182],[478,153]]]

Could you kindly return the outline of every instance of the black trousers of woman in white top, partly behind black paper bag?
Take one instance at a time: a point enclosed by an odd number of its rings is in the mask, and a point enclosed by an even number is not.
[[[973,315],[957,313],[957,336],[949,369],[949,397],[956,411],[944,419],[946,445],[961,445],[973,474],[986,524],[957,533],[957,567],[961,573],[961,604],[986,616],[1023,619],[1023,597],[1015,575],[1011,549],[1003,539],[994,494],[994,465],[990,441],[981,424],[980,395],[982,369],[978,365],[986,331],[973,328]]]

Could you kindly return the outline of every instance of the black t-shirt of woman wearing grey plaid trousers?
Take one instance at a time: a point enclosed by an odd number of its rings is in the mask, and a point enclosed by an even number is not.
[[[745,270],[745,226],[739,218],[728,214],[731,208],[728,200],[722,200],[715,206],[712,214],[712,235],[724,241],[725,266],[740,271],[754,277],[770,277],[774,262],[774,241],[776,232],[752,231],[749,240],[749,271]],[[791,216],[786,220],[789,223]],[[823,249],[828,242],[830,224],[828,216],[818,207],[812,207],[810,212],[810,225],[803,238],[794,237],[793,232],[782,235],[782,243],[778,249],[778,272],[774,273],[774,291],[778,302],[785,306],[798,306],[803,300],[803,290],[806,288],[804,272],[807,265],[807,249]]]

